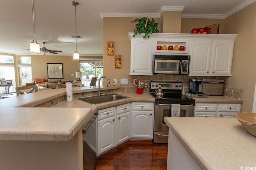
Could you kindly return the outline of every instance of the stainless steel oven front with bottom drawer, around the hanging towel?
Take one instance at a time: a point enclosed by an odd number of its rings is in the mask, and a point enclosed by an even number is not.
[[[156,104],[154,114],[154,143],[168,143],[168,126],[164,117],[171,116],[171,104]],[[194,117],[193,104],[180,105],[180,117]]]

